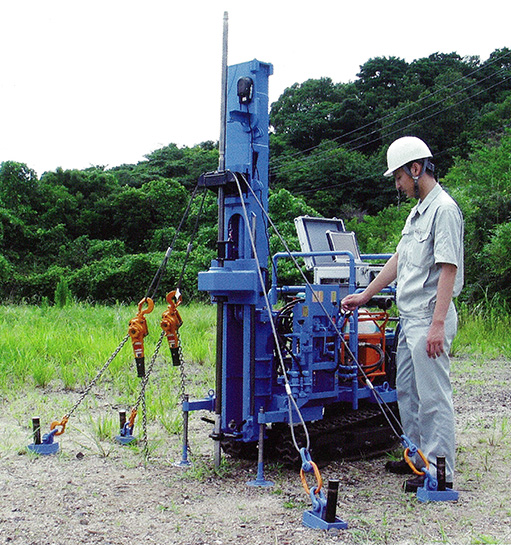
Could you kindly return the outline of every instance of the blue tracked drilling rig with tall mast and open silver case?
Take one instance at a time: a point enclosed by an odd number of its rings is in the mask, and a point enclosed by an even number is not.
[[[295,434],[289,433],[301,428],[297,424],[308,428],[316,458],[389,448],[396,438],[375,390],[387,407],[395,405],[395,329],[388,327],[385,310],[393,290],[374,301],[378,310],[350,316],[340,301],[367,285],[378,270],[375,259],[390,256],[359,255],[341,220],[307,216],[295,220],[302,251],[270,256],[272,72],[271,64],[257,60],[228,67],[225,164],[199,180],[218,194],[218,256],[199,273],[199,290],[217,305],[216,386],[208,402],[215,412],[212,437],[218,448],[243,454],[257,444],[264,425],[265,452],[283,462],[298,459]],[[303,275],[301,285],[280,285],[278,261],[298,265],[300,258],[314,280]]]

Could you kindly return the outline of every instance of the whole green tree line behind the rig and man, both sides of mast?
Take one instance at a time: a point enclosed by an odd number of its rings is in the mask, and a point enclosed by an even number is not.
[[[414,134],[432,148],[441,182],[465,215],[463,297],[510,300],[511,50],[484,62],[456,53],[370,59],[353,82],[291,86],[270,119],[270,213],[292,247],[293,218],[311,214],[344,218],[362,251],[393,251],[412,203],[396,204],[382,177],[385,150]],[[80,300],[137,301],[172,244],[162,285],[181,279],[187,297],[199,296],[197,273],[216,253],[215,195],[196,195],[177,230],[199,175],[217,164],[214,142],[169,144],[135,165],[41,177],[4,161],[0,296],[52,299],[65,282]],[[282,249],[275,236],[269,243],[272,253]]]

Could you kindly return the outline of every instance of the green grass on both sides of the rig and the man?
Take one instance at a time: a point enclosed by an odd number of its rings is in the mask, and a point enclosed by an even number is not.
[[[146,369],[160,336],[160,318],[165,309],[165,305],[158,305],[147,315]],[[204,390],[188,393],[202,397],[207,391],[205,385],[209,382],[212,386],[213,380],[216,308],[191,304],[179,310],[183,318],[180,334],[184,359],[194,363],[193,382],[201,384]],[[27,388],[83,390],[119,346],[136,312],[136,305],[1,306],[0,392]],[[453,344],[455,354],[511,357],[511,313],[504,303],[492,300],[476,308],[460,304],[459,318],[459,331]],[[162,408],[168,406],[168,401],[179,400],[181,381],[179,368],[172,366],[165,339],[159,356],[155,362],[159,380],[157,385],[150,384],[148,391],[157,389],[154,397],[164,401],[149,401],[148,410],[161,416],[164,428],[178,430],[179,423],[169,421]],[[136,377],[129,340],[101,382],[113,388],[120,402],[129,402],[138,392],[140,381]]]

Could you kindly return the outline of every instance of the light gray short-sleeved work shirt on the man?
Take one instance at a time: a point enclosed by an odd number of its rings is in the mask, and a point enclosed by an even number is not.
[[[437,184],[408,216],[397,246],[396,304],[404,317],[432,316],[442,263],[456,265],[453,296],[463,287],[463,216]]]

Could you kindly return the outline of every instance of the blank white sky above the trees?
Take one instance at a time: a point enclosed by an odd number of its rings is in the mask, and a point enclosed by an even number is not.
[[[511,47],[502,0],[3,0],[0,162],[111,168],[218,140],[224,12],[228,64],[273,64],[270,103],[374,57]]]

